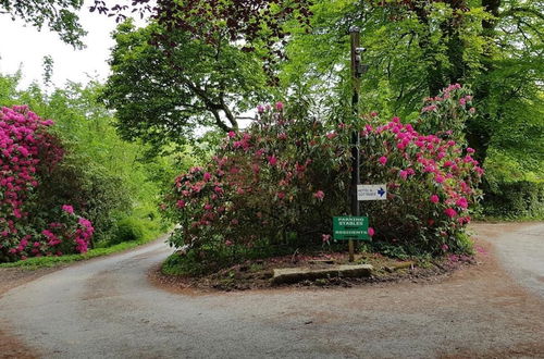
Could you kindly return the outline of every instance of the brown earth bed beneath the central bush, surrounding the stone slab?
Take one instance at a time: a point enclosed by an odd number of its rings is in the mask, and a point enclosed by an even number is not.
[[[165,275],[160,265],[149,273],[151,283],[170,292],[183,294],[231,292],[248,289],[270,289],[280,287],[351,287],[363,284],[397,283],[397,282],[437,282],[449,276],[454,271],[475,264],[473,257],[453,256],[442,260],[396,260],[378,253],[356,255],[356,264],[371,264],[374,270],[370,277],[341,277],[302,281],[295,284],[272,283],[273,270],[280,268],[326,269],[332,265],[347,264],[346,253],[314,253],[312,256],[283,256],[267,260],[248,260],[210,275],[175,276]],[[195,292],[196,290],[196,292]]]

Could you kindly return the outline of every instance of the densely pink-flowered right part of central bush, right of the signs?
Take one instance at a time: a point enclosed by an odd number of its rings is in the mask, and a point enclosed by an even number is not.
[[[403,218],[399,213],[404,211],[410,216],[416,213],[426,223],[425,227],[430,227],[426,236],[441,238],[453,236],[470,222],[469,206],[480,197],[477,187],[483,175],[471,156],[472,148],[466,148],[463,153],[456,140],[421,135],[398,117],[386,124],[378,123],[375,128],[367,125],[361,136],[372,138],[367,145],[381,144],[381,148],[367,146],[362,158],[374,159],[375,162],[371,162],[374,164],[366,171],[376,173],[382,181],[387,178],[390,197],[401,199],[405,209],[399,208],[397,216]],[[418,230],[418,225],[409,221],[398,225],[406,231]]]

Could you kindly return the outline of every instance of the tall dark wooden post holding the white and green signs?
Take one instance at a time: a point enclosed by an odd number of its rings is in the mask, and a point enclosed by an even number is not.
[[[354,117],[357,119],[359,115],[358,104],[359,104],[359,87],[360,87],[360,75],[361,75],[361,57],[360,57],[360,29],[357,26],[351,26],[349,28],[349,36],[351,38],[351,107]],[[355,123],[355,121],[354,121]],[[357,185],[360,184],[359,174],[359,131],[354,128],[351,133],[351,215],[360,215],[359,201],[357,200]],[[349,239],[349,261],[355,261],[354,255],[354,240]]]

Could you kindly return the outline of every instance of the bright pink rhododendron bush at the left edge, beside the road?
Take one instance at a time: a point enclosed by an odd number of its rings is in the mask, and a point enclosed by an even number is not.
[[[27,107],[0,111],[0,262],[87,251],[89,221],[70,205],[44,212],[34,201],[64,156],[52,125]]]

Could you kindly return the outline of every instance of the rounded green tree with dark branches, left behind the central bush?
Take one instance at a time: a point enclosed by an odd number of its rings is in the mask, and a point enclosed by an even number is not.
[[[150,42],[157,33],[175,46]],[[125,139],[156,147],[184,144],[202,126],[223,132],[238,127],[238,116],[263,98],[265,77],[255,53],[220,38],[217,44],[188,32],[164,32],[159,25],[137,29],[125,22],[113,34],[103,98],[116,110]]]

